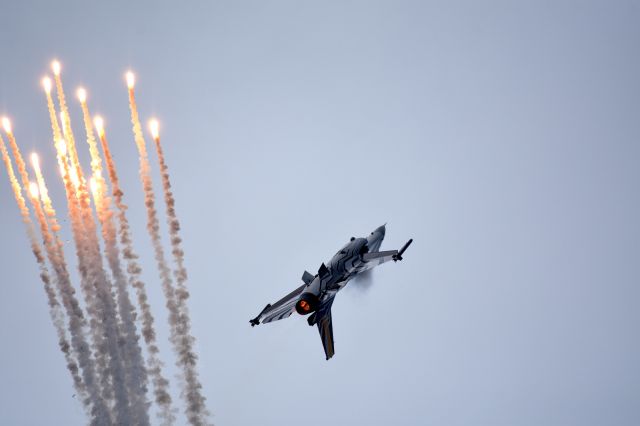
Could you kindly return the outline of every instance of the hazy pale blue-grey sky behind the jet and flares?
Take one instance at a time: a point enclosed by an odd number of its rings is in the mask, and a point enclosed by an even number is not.
[[[219,426],[638,425],[639,22],[637,1],[5,0],[0,113],[63,213],[39,81],[56,57],[89,90],[175,385],[136,71]],[[0,200],[0,423],[83,424],[4,167]],[[249,326],[384,222],[383,249],[415,242],[337,298],[333,359],[297,316]]]

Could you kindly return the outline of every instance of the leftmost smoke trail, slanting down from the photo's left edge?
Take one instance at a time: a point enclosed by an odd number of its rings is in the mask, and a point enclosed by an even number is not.
[[[67,363],[67,369],[69,370],[69,373],[71,373],[74,388],[76,389],[78,395],[82,396],[86,392],[85,384],[83,383],[82,378],[79,375],[78,364],[76,363],[76,360],[71,353],[69,341],[67,340],[67,336],[64,330],[64,317],[62,315],[62,312],[60,311],[60,304],[58,303],[54,289],[51,286],[51,278],[45,263],[44,256],[42,255],[42,250],[36,238],[35,229],[29,215],[29,209],[27,208],[25,200],[22,196],[20,184],[18,183],[18,179],[16,178],[13,171],[11,159],[9,158],[9,153],[7,152],[7,148],[5,146],[4,140],[2,139],[2,136],[0,136],[0,151],[2,151],[2,159],[7,169],[7,175],[11,183],[11,188],[13,189],[16,203],[18,204],[18,208],[20,210],[22,222],[25,224],[27,236],[29,237],[29,243],[31,244],[31,251],[35,256],[36,262],[38,263],[38,267],[40,269],[40,279],[44,284],[44,290],[47,295],[49,314],[51,316],[51,321],[53,322],[53,326],[58,336],[58,346],[64,355],[65,362]],[[85,409],[89,411],[89,401],[86,398],[82,398],[82,402]]]

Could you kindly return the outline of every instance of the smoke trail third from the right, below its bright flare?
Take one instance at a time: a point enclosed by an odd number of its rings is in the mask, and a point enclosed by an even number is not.
[[[115,163],[109,149],[109,143],[104,132],[103,122],[96,118],[96,127],[102,151],[104,152],[105,163],[111,181],[111,193],[113,195],[116,207],[118,208],[118,225],[120,230],[120,243],[123,247],[123,256],[127,261],[127,272],[129,273],[129,283],[136,289],[138,305],[142,316],[142,335],[149,351],[149,368],[148,372],[152,377],[155,401],[160,407],[160,416],[164,424],[172,424],[175,417],[172,413],[172,401],[169,394],[169,381],[162,374],[162,361],[160,360],[160,350],[156,343],[156,332],[154,328],[154,318],[149,305],[147,290],[144,282],[141,280],[142,268],[137,262],[138,255],[133,249],[131,239],[131,231],[129,221],[127,219],[127,206],[123,201],[124,193],[120,188],[120,181],[116,172]]]

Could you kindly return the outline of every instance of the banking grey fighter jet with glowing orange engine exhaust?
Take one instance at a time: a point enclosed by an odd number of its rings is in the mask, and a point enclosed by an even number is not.
[[[300,315],[309,315],[310,326],[317,325],[327,360],[335,351],[333,346],[333,324],[331,305],[336,294],[349,280],[358,274],[393,260],[402,260],[402,255],[412,239],[400,250],[379,251],[385,234],[385,225],[375,229],[366,238],[351,237],[328,262],[320,265],[318,273],[307,271],[302,274],[302,284],[291,293],[273,304],[268,304],[257,317],[249,321],[251,327],[262,323],[278,321],[291,316],[293,311]]]

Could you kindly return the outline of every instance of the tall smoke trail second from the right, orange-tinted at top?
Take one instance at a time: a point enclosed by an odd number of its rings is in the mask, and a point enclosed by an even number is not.
[[[184,380],[187,389],[182,392],[185,402],[187,403],[186,415],[189,422],[193,425],[207,424],[208,412],[204,407],[204,397],[200,394],[200,388],[191,388],[195,373],[195,361],[189,358],[188,354],[192,354],[193,337],[191,337],[188,322],[184,320],[179,310],[176,300],[175,289],[171,280],[171,271],[167,266],[162,242],[160,239],[159,223],[155,208],[155,196],[151,183],[151,174],[149,166],[149,158],[145,147],[144,136],[140,126],[138,116],[138,108],[135,101],[135,93],[133,90],[133,74],[127,74],[127,85],[129,87],[129,108],[131,110],[131,124],[133,125],[133,133],[136,146],[138,147],[140,160],[140,178],[145,194],[145,205],[147,207],[147,229],[151,235],[154,246],[155,258],[160,272],[162,288],[167,299],[166,305],[169,310],[169,325],[171,330],[171,342],[178,354],[178,365],[182,368]],[[195,396],[195,397],[194,397]]]

